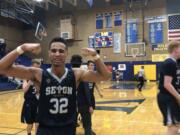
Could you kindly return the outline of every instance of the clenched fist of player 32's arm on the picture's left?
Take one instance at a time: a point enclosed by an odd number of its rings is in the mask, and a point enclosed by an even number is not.
[[[24,43],[21,45],[21,48],[25,52],[32,52],[34,54],[41,52],[41,46],[39,43]]]

